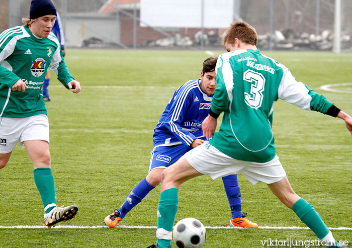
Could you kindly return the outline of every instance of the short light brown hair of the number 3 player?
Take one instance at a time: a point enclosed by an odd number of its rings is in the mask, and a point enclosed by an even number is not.
[[[258,36],[255,29],[245,22],[234,22],[231,23],[231,26],[226,30],[225,36],[222,39],[222,45],[225,46],[225,43],[234,44],[235,38],[239,39],[244,43],[251,45],[256,45]]]

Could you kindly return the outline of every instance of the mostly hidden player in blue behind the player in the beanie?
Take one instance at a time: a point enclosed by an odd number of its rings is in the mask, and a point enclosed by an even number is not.
[[[62,51],[62,57],[65,57],[65,36],[63,34],[63,28],[61,24],[61,18],[58,12],[56,12],[56,22],[54,23],[54,26],[51,29],[51,32],[57,37],[57,40],[60,42],[60,47]],[[49,70],[46,71],[44,83],[43,83],[43,100],[44,101],[50,101],[50,95],[49,95],[49,81],[50,81],[50,72]]]

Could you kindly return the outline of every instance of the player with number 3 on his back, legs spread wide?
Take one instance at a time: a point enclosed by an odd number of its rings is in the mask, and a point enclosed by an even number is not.
[[[209,175],[213,179],[240,172],[249,182],[267,183],[272,192],[328,247],[347,247],[335,241],[320,215],[292,189],[275,154],[271,128],[273,103],[281,98],[302,109],[344,119],[352,134],[352,118],[324,96],[297,82],[290,70],[256,48],[255,29],[244,22],[231,24],[223,39],[228,53],[219,56],[217,88],[203,134],[213,136],[216,118],[224,112],[220,131],[211,141],[186,153],[162,173],[158,206],[157,243],[170,245],[178,206],[178,189],[190,178]]]

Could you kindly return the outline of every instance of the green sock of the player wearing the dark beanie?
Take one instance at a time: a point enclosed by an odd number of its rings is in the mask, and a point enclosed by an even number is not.
[[[45,213],[56,206],[54,177],[50,168],[37,168],[33,171],[34,181],[44,205]]]

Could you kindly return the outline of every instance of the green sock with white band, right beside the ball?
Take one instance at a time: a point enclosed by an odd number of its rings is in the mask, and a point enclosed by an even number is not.
[[[171,244],[172,226],[179,206],[179,190],[167,189],[161,192],[158,206],[158,227],[156,237],[160,248],[168,248]]]

